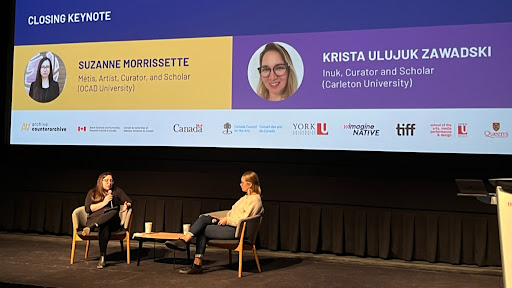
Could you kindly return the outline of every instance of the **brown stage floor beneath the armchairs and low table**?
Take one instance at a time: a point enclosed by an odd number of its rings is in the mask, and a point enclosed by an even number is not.
[[[262,273],[250,251],[244,253],[243,275],[237,277],[238,254],[228,265],[227,250],[208,248],[201,275],[180,275],[186,252],[145,242],[137,266],[138,241],[131,243],[131,263],[119,241],[108,246],[105,269],[96,269],[98,242],[88,260],[79,242],[75,263],[69,264],[70,236],[0,232],[2,287],[503,287],[501,267],[383,260],[332,254],[259,250]],[[193,246],[192,246],[193,247]],[[193,255],[193,248],[191,249]],[[155,255],[153,254],[155,251]],[[177,286],[176,286],[177,287]]]

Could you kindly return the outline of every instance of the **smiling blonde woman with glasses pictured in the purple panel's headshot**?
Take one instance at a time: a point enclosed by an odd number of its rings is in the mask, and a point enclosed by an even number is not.
[[[258,95],[269,101],[284,100],[297,90],[292,58],[283,46],[271,42],[260,53]]]

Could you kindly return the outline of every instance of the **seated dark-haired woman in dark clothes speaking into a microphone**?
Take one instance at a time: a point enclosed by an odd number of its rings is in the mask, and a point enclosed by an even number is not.
[[[102,173],[96,181],[96,186],[89,190],[85,197],[85,211],[88,216],[82,235],[98,231],[100,262],[97,268],[106,266],[107,244],[111,233],[121,228],[119,207],[123,204],[128,208],[132,205],[132,200],[123,189],[114,186],[114,178],[110,172]]]

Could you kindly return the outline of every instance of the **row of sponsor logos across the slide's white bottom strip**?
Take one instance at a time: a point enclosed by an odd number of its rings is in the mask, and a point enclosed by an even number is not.
[[[473,125],[474,126],[474,125]],[[21,124],[22,132],[54,132],[54,133],[175,133],[175,134],[202,134],[205,132],[219,133],[225,135],[231,134],[276,134],[293,136],[366,136],[379,137],[393,135],[398,137],[415,137],[419,135],[432,135],[433,137],[488,137],[488,138],[508,138],[509,131],[502,127],[500,122],[492,122],[486,125],[487,129],[471,127],[468,123],[439,123],[433,122],[418,125],[417,123],[396,123],[393,127],[390,125],[375,124],[329,124],[326,122],[316,123],[291,123],[288,125],[247,125],[225,122],[220,125],[204,125],[202,123],[180,124],[172,123],[165,126],[164,129],[156,129],[150,126],[121,126],[121,125],[52,125],[48,122],[23,122]],[[159,126],[160,127],[160,126]],[[15,127],[13,127],[15,129]]]

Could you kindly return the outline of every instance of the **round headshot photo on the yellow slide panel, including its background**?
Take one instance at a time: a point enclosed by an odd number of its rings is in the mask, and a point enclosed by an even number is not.
[[[65,68],[62,61],[51,52],[42,52],[30,59],[25,71],[25,89],[37,102],[55,100],[65,82]]]

